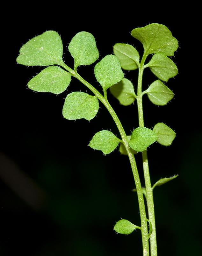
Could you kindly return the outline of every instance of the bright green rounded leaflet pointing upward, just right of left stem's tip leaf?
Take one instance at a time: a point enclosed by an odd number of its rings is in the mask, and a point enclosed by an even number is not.
[[[69,44],[69,52],[74,58],[74,69],[81,65],[90,65],[99,58],[95,38],[89,32],[79,32]]]

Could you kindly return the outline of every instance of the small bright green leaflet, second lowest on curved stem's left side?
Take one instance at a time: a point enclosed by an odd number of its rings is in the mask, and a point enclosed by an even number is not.
[[[112,132],[100,131],[97,132],[92,140],[90,140],[89,146],[93,149],[101,150],[105,155],[111,153],[121,142]]]

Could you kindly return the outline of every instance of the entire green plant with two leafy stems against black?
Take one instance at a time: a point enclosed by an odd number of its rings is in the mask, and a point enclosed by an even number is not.
[[[76,34],[69,44],[69,52],[74,58],[73,69],[62,60],[62,41],[55,31],[46,31],[23,45],[17,62],[27,66],[48,66],[29,81],[28,87],[33,91],[62,93],[69,86],[72,77],[77,78],[90,89],[93,95],[85,92],[72,92],[67,95],[62,111],[66,119],[84,118],[90,121],[97,115],[99,101],[107,108],[119,129],[120,138],[111,131],[102,130],[93,136],[89,146],[101,150],[106,155],[120,144],[120,153],[128,155],[130,160],[136,185],[134,191],[137,192],[141,217],[141,227],[128,220],[119,220],[114,226],[114,230],[121,234],[130,234],[136,228],[141,229],[143,255],[156,256],[153,189],[155,186],[160,186],[176,178],[177,175],[160,179],[151,187],[147,148],[155,141],[161,145],[169,146],[176,134],[163,123],[156,124],[153,130],[144,126],[142,97],[147,94],[152,103],[160,106],[166,105],[173,98],[173,92],[161,81],[167,82],[169,78],[178,73],[176,65],[169,58],[177,50],[178,42],[170,30],[161,24],[150,24],[144,28],[133,29],[132,36],[143,44],[144,53],[141,61],[138,51],[132,45],[115,44],[113,47],[115,55],[107,55],[95,65],[95,77],[102,87],[102,92],[99,92],[99,88],[92,86],[77,72],[79,66],[90,65],[99,57],[95,38],[88,32],[83,31]],[[152,57],[148,59],[148,56],[151,55]],[[148,60],[147,64],[145,64],[146,60]],[[145,68],[150,68],[159,80],[154,81],[147,90],[142,92],[142,76]],[[136,93],[131,81],[124,77],[122,69],[139,69]],[[118,116],[110,105],[107,89],[124,106],[137,101],[139,127],[134,129],[131,135],[127,136]],[[134,154],[137,152],[142,152],[145,188],[141,186],[135,162]],[[149,217],[146,214],[143,195],[146,198]]]

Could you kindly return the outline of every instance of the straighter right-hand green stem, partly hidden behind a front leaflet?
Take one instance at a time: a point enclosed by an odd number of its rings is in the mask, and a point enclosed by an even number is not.
[[[143,117],[143,108],[142,108],[142,75],[144,70],[144,62],[146,60],[146,54],[143,55],[141,64],[139,67],[139,76],[138,76],[138,88],[137,88],[137,105],[138,105],[138,116],[139,116],[139,126],[144,127],[144,117]],[[142,161],[143,161],[143,171],[145,179],[145,187],[147,191],[147,206],[148,206],[148,215],[149,220],[152,224],[152,233],[150,236],[150,252],[151,256],[157,256],[157,245],[156,245],[156,227],[155,227],[155,212],[154,212],[154,199],[153,191],[151,187],[150,175],[149,175],[149,165],[147,151],[142,152]]]

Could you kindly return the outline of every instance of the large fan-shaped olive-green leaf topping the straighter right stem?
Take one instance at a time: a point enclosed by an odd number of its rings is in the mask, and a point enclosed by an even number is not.
[[[162,24],[152,23],[143,28],[135,28],[131,35],[143,44],[146,56],[157,52],[173,56],[178,48],[177,39]]]

